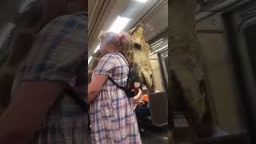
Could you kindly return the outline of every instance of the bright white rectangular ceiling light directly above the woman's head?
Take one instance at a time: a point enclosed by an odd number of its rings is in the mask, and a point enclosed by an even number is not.
[[[114,23],[112,26],[110,26],[110,29],[108,31],[112,31],[114,33],[120,33],[121,30],[123,30],[126,25],[130,22],[130,18],[124,18],[118,16],[118,18],[115,19]]]

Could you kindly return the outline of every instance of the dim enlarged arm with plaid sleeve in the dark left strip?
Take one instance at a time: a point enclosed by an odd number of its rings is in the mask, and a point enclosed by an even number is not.
[[[75,20],[76,17],[56,18],[41,30],[35,40],[33,53],[28,55],[26,66],[23,67],[19,90],[15,91],[13,101],[0,117],[1,144],[29,143],[63,89],[74,86],[86,49],[81,47],[85,38],[82,36],[84,30],[77,30],[77,25],[69,25],[65,29],[71,18]],[[73,43],[70,46],[70,38],[77,46]]]

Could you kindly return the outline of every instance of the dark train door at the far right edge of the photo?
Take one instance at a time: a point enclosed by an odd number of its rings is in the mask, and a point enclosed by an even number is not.
[[[224,15],[230,38],[230,51],[235,63],[238,83],[242,93],[247,129],[253,142],[256,128],[256,2],[246,3]]]

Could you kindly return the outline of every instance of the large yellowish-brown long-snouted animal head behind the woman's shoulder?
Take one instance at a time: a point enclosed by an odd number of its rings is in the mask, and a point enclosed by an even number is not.
[[[142,24],[131,29],[128,33],[130,35],[126,46],[122,54],[126,57],[126,60],[130,63],[130,68],[134,70],[134,74],[138,77],[138,80],[144,84],[148,90],[153,91],[153,78],[150,65],[150,46],[144,39],[144,32]],[[94,68],[97,66],[100,54],[98,52],[94,55],[94,59],[90,65],[89,70],[89,82],[91,74]]]

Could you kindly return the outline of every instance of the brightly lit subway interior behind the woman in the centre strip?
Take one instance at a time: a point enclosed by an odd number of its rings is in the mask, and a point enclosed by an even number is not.
[[[142,24],[145,41],[150,45],[150,64],[156,92],[148,95],[150,116],[146,119],[143,143],[167,143],[168,101],[167,58],[168,58],[168,1],[167,0],[125,0],[89,1],[88,66],[94,65],[99,49],[98,34],[103,31],[128,32]]]

